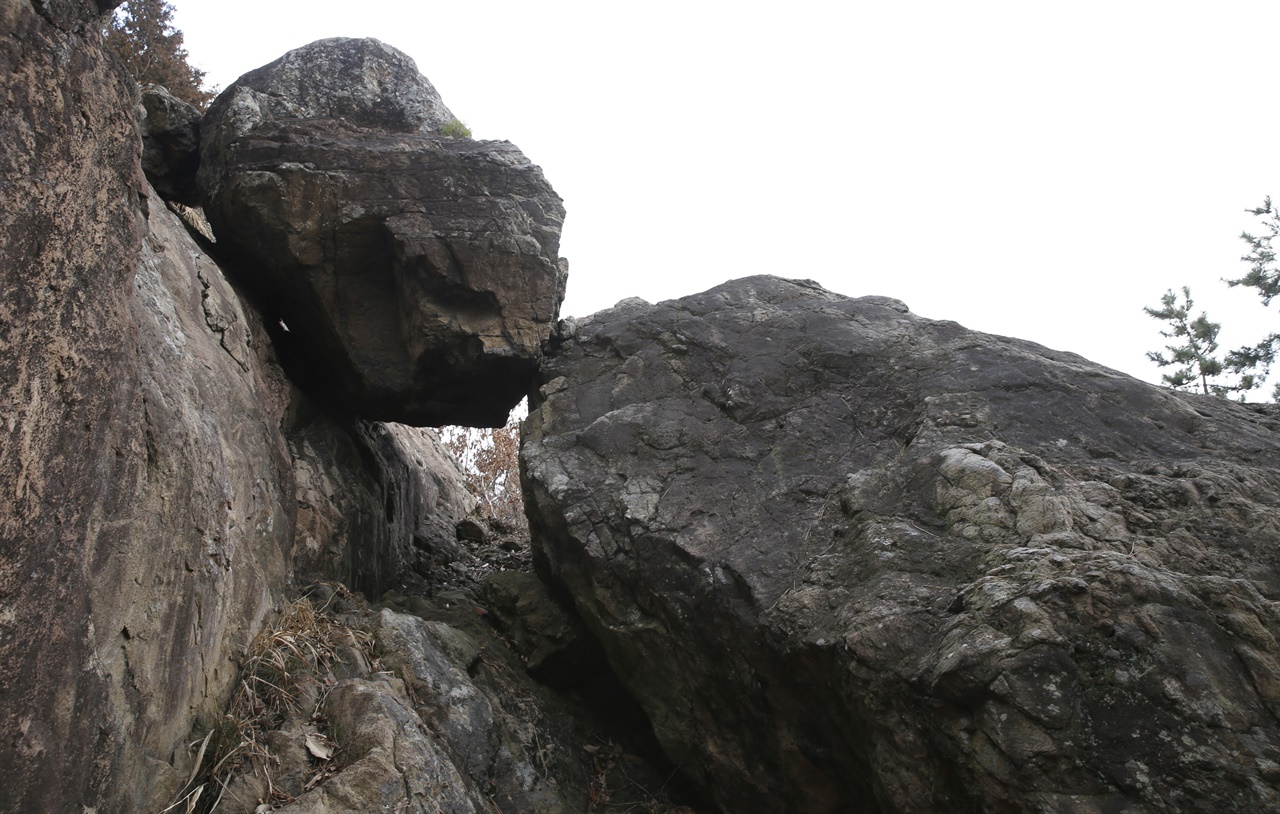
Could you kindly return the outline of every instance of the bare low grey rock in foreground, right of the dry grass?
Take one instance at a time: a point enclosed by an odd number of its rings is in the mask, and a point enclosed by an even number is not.
[[[329,814],[694,814],[673,808],[660,755],[635,754],[627,732],[599,730],[590,710],[532,681],[470,602],[412,596],[379,610],[329,585],[312,599],[328,609],[325,637],[334,623],[361,631],[352,637],[365,639],[369,658],[287,678],[298,703],[265,737],[273,758],[225,781],[220,811],[273,802]],[[308,648],[307,634],[291,630],[294,646]],[[330,745],[328,755],[308,738]]]

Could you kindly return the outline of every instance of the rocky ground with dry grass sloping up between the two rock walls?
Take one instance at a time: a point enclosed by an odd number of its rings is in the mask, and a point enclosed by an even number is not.
[[[460,526],[452,562],[376,602],[321,582],[284,608],[210,741],[192,744],[202,768],[178,801],[259,814],[710,810],[531,573],[527,531]]]

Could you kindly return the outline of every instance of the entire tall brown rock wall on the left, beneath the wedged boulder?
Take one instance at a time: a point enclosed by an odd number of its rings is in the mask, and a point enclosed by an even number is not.
[[[150,191],[106,5],[0,0],[5,813],[164,808],[293,575],[381,590],[463,500],[430,434],[316,413]]]

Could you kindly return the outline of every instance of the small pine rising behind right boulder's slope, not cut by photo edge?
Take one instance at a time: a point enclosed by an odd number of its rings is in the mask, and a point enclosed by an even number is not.
[[[1160,308],[1143,308],[1147,316],[1169,323],[1169,330],[1160,331],[1166,339],[1179,340],[1176,344],[1165,346],[1169,356],[1158,351],[1149,351],[1147,358],[1161,367],[1175,367],[1172,372],[1162,374],[1161,380],[1175,390],[1199,389],[1206,395],[1229,395],[1252,390],[1261,384],[1261,380],[1252,372],[1243,372],[1242,369],[1231,363],[1230,355],[1226,365],[1219,360],[1217,333],[1221,324],[1210,321],[1208,315],[1201,311],[1199,316],[1192,319],[1192,291],[1183,285],[1183,301],[1178,302],[1178,294],[1172,289],[1165,292],[1160,298]],[[1233,351],[1233,353],[1238,353]],[[1234,384],[1215,381],[1225,371],[1240,374]]]

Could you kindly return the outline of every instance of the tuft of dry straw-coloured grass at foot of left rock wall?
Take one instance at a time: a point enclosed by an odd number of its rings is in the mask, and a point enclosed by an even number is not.
[[[346,594],[346,589],[335,587]],[[284,608],[279,621],[253,639],[227,714],[202,741],[197,741],[191,778],[165,813],[211,814],[228,781],[250,768],[266,782],[268,799],[262,804],[292,800],[273,782],[278,760],[268,747],[268,732],[279,728],[291,715],[323,723],[319,706],[334,683],[330,668],[340,660],[339,649],[344,644],[349,646],[352,637],[367,658],[372,655],[372,640],[367,634],[339,625],[324,610],[303,596]],[[319,694],[314,690],[316,685],[321,690]],[[312,778],[308,787],[324,774]]]

